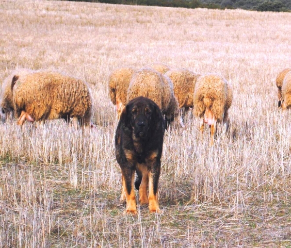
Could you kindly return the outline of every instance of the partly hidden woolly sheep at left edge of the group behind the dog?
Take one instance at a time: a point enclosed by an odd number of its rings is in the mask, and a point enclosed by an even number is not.
[[[114,70],[109,77],[109,94],[112,103],[116,105],[118,119],[127,103],[127,90],[135,71],[136,69],[132,67],[120,67]]]

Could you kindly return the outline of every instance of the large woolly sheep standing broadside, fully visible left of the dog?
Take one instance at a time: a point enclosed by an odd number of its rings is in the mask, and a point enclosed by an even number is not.
[[[54,71],[36,71],[14,76],[12,82],[17,125],[57,118],[70,122],[72,117],[81,127],[94,127],[91,93],[82,80]]]

